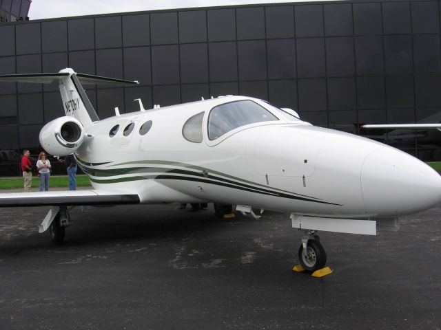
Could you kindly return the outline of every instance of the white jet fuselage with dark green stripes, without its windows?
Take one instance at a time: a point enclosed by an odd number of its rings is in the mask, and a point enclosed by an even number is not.
[[[215,140],[209,111],[253,100],[279,120],[248,124]],[[183,137],[183,125],[205,111],[203,142]],[[140,135],[140,127],[152,127]],[[132,133],[123,135],[134,122]],[[119,130],[109,136],[112,127]],[[441,199],[440,175],[418,159],[357,135],[290,120],[266,102],[227,96],[127,113],[85,127],[79,165],[96,189],[123,186],[141,203],[240,204],[320,217],[396,217]]]

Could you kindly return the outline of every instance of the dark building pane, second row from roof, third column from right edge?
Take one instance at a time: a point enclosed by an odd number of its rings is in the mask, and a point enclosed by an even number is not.
[[[381,36],[356,37],[356,69],[358,76],[384,74]]]

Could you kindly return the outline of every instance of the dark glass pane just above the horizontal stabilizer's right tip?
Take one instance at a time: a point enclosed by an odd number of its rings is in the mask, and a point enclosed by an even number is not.
[[[124,79],[138,80],[140,85],[152,85],[150,47],[124,48]]]

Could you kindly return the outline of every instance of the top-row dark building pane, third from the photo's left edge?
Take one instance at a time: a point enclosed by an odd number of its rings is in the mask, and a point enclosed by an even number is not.
[[[68,24],[66,21],[41,23],[43,53],[68,50]]]

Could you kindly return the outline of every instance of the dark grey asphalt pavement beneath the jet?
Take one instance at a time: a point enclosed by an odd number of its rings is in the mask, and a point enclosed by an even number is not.
[[[0,209],[0,329],[441,329],[441,204],[378,236],[322,232],[333,274],[292,272],[287,214],[176,205]]]

